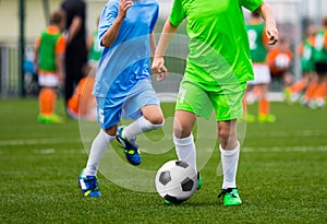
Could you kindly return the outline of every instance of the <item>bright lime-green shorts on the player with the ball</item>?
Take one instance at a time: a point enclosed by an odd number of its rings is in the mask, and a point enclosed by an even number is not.
[[[245,89],[246,82],[208,86],[183,79],[175,109],[191,111],[205,119],[210,118],[214,109],[217,121],[242,118]]]

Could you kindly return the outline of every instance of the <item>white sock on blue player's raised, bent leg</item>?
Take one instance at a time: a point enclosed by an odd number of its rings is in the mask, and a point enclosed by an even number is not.
[[[137,120],[125,127],[122,131],[122,135],[123,138],[131,140],[141,133],[158,129],[162,126],[164,122],[160,125],[154,125],[142,116]]]

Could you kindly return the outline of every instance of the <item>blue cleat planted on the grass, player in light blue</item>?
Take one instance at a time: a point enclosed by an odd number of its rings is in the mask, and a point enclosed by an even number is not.
[[[95,176],[84,176],[84,168],[78,176],[78,186],[85,197],[100,197],[100,188]]]

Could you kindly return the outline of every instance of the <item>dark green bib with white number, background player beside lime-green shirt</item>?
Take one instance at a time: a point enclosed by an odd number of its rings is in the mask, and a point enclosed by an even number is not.
[[[267,49],[264,45],[264,31],[265,24],[247,24],[246,25],[250,50],[251,50],[251,59],[253,62],[265,62],[267,56]]]

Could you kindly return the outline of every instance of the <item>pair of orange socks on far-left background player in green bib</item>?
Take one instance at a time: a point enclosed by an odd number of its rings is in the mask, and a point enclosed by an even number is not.
[[[50,116],[55,113],[57,95],[52,89],[41,89],[38,95],[39,110],[44,116]]]

